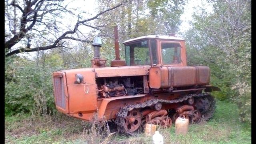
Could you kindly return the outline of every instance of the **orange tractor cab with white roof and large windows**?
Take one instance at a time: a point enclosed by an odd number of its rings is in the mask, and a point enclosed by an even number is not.
[[[148,35],[126,40],[126,66],[186,66],[185,41],[174,36]]]

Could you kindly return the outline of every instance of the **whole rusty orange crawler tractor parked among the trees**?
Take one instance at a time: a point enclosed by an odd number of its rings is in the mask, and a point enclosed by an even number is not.
[[[179,116],[190,123],[212,117],[215,100],[209,92],[219,89],[209,85],[209,67],[187,66],[182,38],[149,35],[123,44],[126,60],[120,60],[115,27],[116,59],[110,67],[100,58],[102,42],[96,37],[92,68],[53,73],[60,112],[88,122],[98,113],[125,133],[147,123],[171,127]]]

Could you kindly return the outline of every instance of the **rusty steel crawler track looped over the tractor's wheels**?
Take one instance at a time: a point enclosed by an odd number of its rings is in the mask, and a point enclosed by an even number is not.
[[[118,126],[118,131],[121,133],[128,133],[125,128],[124,128],[124,118],[127,116],[127,113],[133,109],[138,109],[138,108],[145,108],[145,107],[150,107],[158,102],[160,103],[167,103],[167,104],[174,104],[174,103],[179,103],[183,102],[185,100],[188,100],[188,98],[194,97],[195,99],[198,98],[204,98],[208,100],[210,103],[210,106],[208,110],[206,110],[202,116],[204,116],[205,120],[208,120],[209,118],[212,117],[214,110],[215,110],[215,100],[214,98],[210,95],[210,93],[200,93],[200,94],[188,94],[188,95],[183,95],[178,98],[175,98],[174,100],[162,100],[162,99],[152,99],[148,100],[146,102],[140,103],[140,104],[133,104],[133,105],[128,105],[120,108],[120,110],[116,113],[116,120],[115,123]]]

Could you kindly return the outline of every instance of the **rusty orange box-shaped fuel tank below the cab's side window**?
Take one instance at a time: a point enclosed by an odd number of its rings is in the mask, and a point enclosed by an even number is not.
[[[155,66],[149,69],[150,88],[177,88],[209,83],[210,68],[207,66]]]

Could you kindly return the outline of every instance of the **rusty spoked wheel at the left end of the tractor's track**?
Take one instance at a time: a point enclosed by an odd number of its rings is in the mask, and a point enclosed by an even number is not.
[[[124,129],[127,132],[134,132],[140,127],[141,124],[141,114],[138,110],[132,110],[127,113],[124,119]]]

